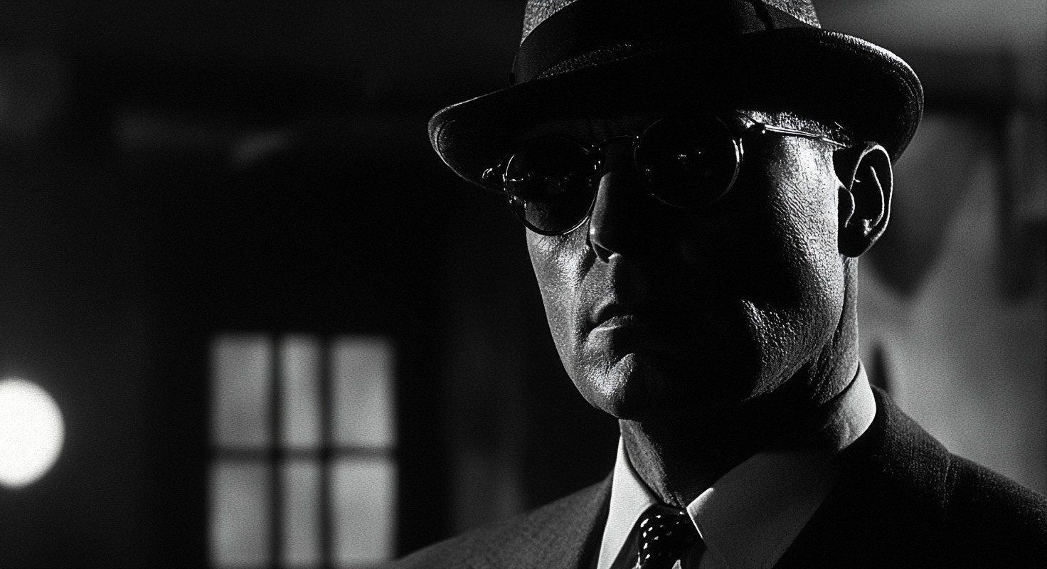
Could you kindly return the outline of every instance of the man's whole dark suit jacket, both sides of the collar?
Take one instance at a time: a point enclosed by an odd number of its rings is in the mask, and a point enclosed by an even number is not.
[[[950,454],[878,391],[876,406],[776,567],[1047,567],[1047,498]],[[609,497],[607,478],[394,567],[594,567]]]

